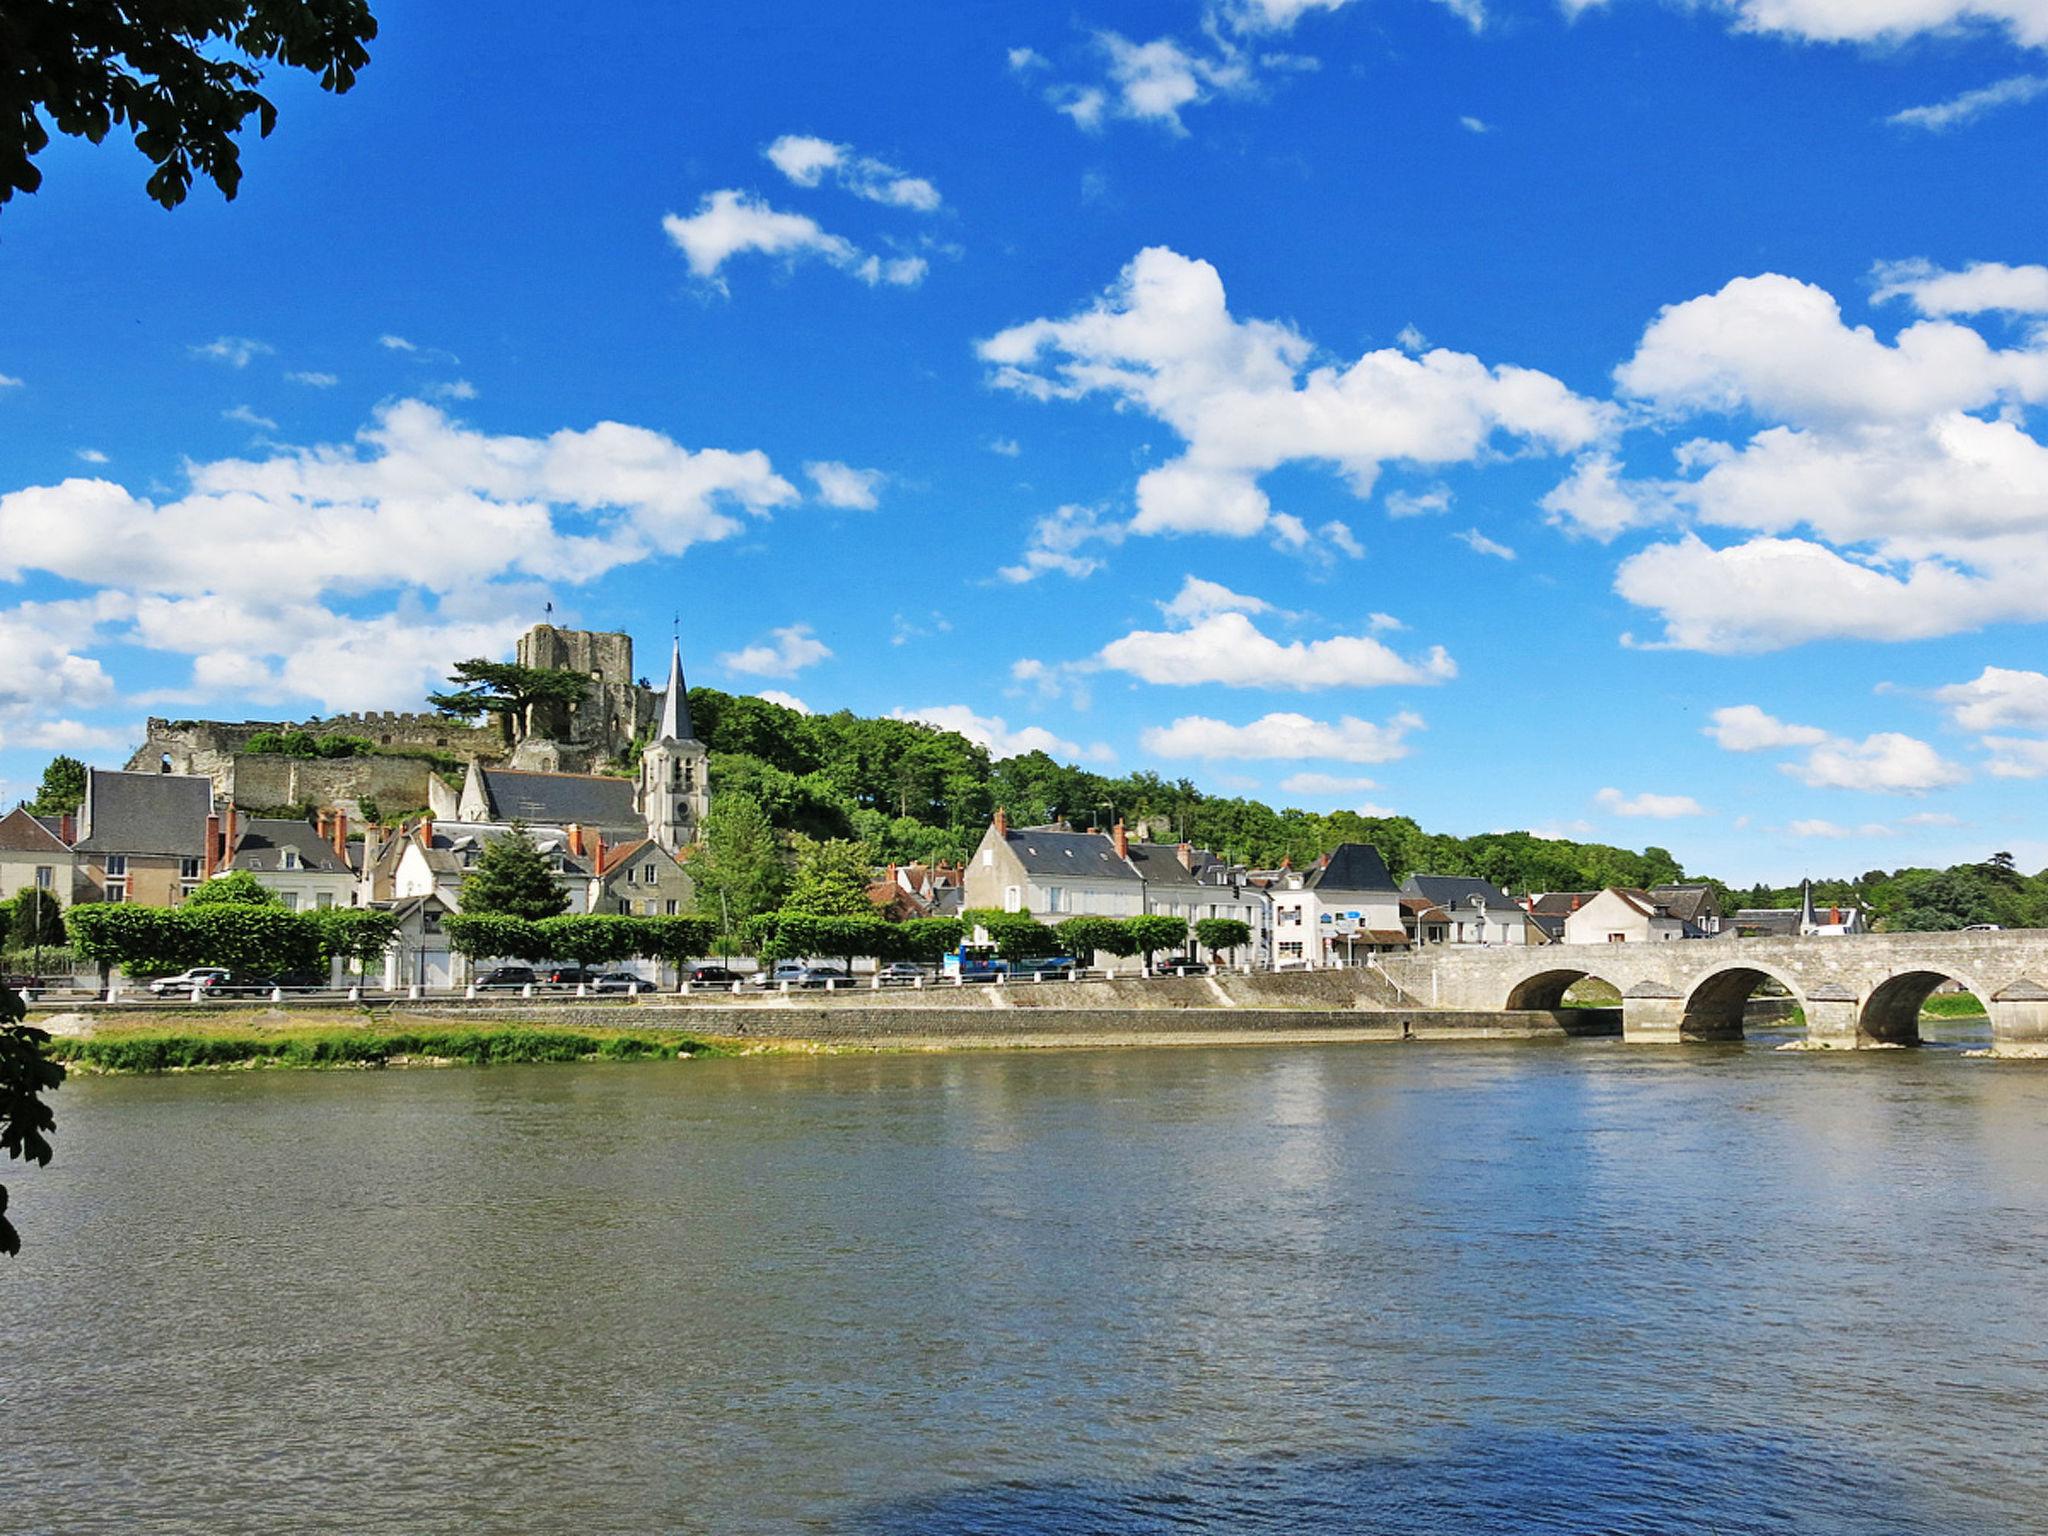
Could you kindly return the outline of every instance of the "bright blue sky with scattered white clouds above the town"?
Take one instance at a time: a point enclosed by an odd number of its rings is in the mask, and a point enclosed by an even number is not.
[[[549,616],[1219,795],[2048,864],[2048,0],[377,6],[0,209],[0,791]]]

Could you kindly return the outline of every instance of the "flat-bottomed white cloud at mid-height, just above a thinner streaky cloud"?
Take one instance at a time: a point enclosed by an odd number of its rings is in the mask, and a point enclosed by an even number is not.
[[[1096,662],[1165,686],[1219,682],[1227,688],[1298,692],[1436,684],[1458,676],[1442,645],[1421,659],[1403,657],[1370,635],[1282,645],[1243,612],[1212,612],[1186,629],[1135,629],[1104,645]]]

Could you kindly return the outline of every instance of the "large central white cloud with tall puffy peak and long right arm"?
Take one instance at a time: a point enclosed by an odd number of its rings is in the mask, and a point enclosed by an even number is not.
[[[1217,268],[1159,246],[1094,307],[1012,326],[979,352],[997,387],[1034,399],[1102,393],[1182,436],[1186,451],[1139,479],[1133,532],[1286,535],[1300,522],[1284,522],[1260,487],[1282,465],[1335,465],[1364,498],[1389,461],[1468,463],[1503,442],[1563,453],[1612,418],[1544,373],[1442,348],[1311,367],[1307,338],[1233,317]]]

